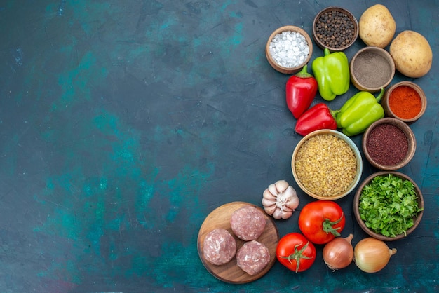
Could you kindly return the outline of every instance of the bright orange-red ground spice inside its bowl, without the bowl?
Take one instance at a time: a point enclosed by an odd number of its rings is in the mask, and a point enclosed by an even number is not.
[[[399,118],[411,119],[421,111],[421,97],[410,86],[398,86],[389,95],[389,107]]]

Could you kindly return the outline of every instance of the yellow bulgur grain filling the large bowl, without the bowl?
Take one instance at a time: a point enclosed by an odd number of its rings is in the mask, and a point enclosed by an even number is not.
[[[318,196],[337,196],[353,182],[357,161],[353,150],[335,135],[310,137],[297,151],[297,178]]]

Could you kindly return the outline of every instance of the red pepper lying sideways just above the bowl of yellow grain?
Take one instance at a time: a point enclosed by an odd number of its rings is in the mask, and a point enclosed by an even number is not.
[[[315,104],[297,119],[295,131],[299,135],[307,135],[315,130],[337,129],[337,122],[331,110],[324,103]]]

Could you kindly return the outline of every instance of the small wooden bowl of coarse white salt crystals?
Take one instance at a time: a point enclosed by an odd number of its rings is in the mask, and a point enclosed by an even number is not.
[[[265,55],[271,67],[283,74],[295,74],[311,59],[313,43],[300,27],[285,25],[266,42]]]

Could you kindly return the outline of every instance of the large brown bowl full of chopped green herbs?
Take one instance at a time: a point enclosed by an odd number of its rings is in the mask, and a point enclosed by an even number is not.
[[[424,198],[407,175],[380,171],[358,186],[353,212],[361,229],[383,241],[407,237],[421,222]]]

